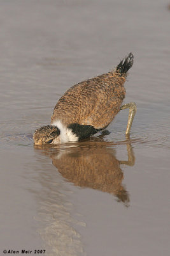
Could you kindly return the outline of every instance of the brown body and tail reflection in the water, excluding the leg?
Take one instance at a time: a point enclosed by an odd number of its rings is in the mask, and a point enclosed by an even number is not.
[[[81,143],[82,144],[82,143]],[[73,182],[75,186],[98,189],[111,193],[118,198],[118,202],[129,202],[129,195],[122,186],[124,173],[120,168],[120,161],[114,156],[113,149],[107,148],[105,143],[95,147],[69,148],[59,153],[50,153],[52,163],[64,178]]]

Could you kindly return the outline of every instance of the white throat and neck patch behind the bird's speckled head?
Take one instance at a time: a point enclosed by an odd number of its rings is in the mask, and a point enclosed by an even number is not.
[[[66,143],[69,141],[78,141],[78,137],[73,133],[72,129],[68,129],[60,120],[52,122],[51,125],[55,125],[60,130],[60,143]]]

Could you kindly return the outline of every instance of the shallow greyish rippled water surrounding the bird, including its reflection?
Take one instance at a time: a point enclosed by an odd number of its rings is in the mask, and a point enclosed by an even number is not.
[[[1,254],[168,255],[167,4],[1,1]],[[131,138],[124,110],[109,132],[34,147],[34,130],[50,123],[67,88],[111,70],[128,52],[135,60],[125,103],[138,106]]]

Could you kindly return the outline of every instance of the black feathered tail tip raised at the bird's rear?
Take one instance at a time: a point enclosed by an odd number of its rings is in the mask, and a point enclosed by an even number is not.
[[[127,57],[120,61],[117,65],[116,72],[120,73],[120,76],[125,76],[127,71],[132,67],[134,63],[134,54],[130,52]]]

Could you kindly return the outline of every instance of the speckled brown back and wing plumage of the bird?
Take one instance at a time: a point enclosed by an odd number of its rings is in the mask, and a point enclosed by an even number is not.
[[[57,102],[52,122],[78,123],[101,129],[113,120],[125,97],[125,77],[108,72],[72,86]]]

